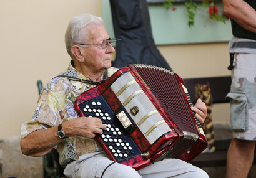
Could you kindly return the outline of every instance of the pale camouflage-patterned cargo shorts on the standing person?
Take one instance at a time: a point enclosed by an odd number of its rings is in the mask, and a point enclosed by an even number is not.
[[[233,137],[256,140],[256,54],[235,54],[230,98]]]

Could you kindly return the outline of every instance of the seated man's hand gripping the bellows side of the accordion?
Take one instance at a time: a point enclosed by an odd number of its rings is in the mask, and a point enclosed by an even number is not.
[[[207,107],[201,99],[197,100],[194,107],[191,107],[192,111],[195,112],[195,117],[200,121],[200,123],[204,123],[205,118],[207,116]]]

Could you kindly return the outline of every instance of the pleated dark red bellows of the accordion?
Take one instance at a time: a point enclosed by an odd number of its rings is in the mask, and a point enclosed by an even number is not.
[[[182,131],[197,133],[174,72],[152,65],[135,64],[150,90]]]

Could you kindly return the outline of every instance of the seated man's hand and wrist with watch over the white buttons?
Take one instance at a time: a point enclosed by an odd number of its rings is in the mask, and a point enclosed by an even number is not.
[[[62,123],[62,130],[66,136],[85,136],[94,138],[96,134],[102,134],[106,125],[99,118],[74,118]]]

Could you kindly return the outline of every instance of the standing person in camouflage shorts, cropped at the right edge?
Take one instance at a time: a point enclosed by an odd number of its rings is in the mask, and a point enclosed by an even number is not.
[[[247,177],[256,144],[256,1],[223,0],[232,22],[229,42],[232,84],[230,126],[233,139],[227,153],[227,178]]]

